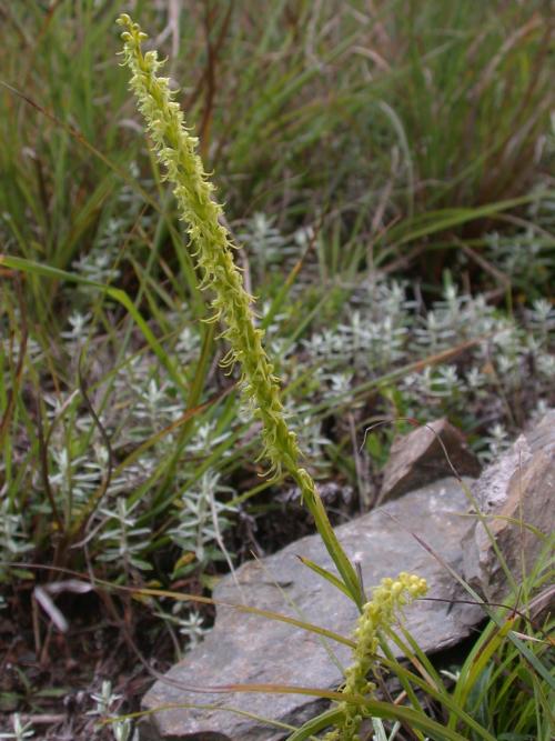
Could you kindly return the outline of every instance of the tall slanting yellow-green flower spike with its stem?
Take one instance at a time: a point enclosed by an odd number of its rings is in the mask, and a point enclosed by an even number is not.
[[[240,364],[243,399],[254,418],[262,422],[261,458],[270,461],[270,471],[274,475],[284,470],[294,479],[347,591],[362,609],[362,589],[356,572],[333,532],[312,477],[299,464],[301,451],[295,434],[285,422],[279,379],[262,346],[264,332],[254,324],[253,299],[244,290],[233,261],[234,244],[222,223],[222,207],[213,199],[214,187],[196,153],[198,139],[185,128],[168,78],[157,74],[163,64],[158,52],[142,52],[141,44],[147,34],[125,13],[120,16],[118,23],[125,29],[122,53],[124,64],[132,73],[130,87],[145,119],[153,150],[173,184],[181,218],[188,224],[202,274],[201,288],[213,292],[212,321],[221,320],[225,328],[221,337],[229,342],[230,351],[223,364]]]

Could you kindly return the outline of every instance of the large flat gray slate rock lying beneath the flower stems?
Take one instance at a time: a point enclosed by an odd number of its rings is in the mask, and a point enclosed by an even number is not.
[[[468,504],[461,484],[443,479],[386,503],[336,528],[347,554],[361,563],[367,591],[383,577],[410,571],[425,577],[430,597],[406,610],[406,627],[424,651],[454,645],[478,622],[475,605],[451,604],[462,593],[453,578],[416,540],[416,533],[452,568],[462,565],[461,542],[474,522],[461,517]],[[291,543],[279,553],[243,564],[235,580],[226,577],[214,599],[287,614],[344,635],[351,635],[354,604],[299,560],[303,555],[333,570],[317,535]],[[214,629],[205,640],[158,681],[143,700],[155,710],[168,704],[213,704],[218,709],[175,708],[149,715],[140,727],[141,741],[278,741],[287,732],[262,719],[299,727],[323,709],[314,698],[296,694],[192,692],[191,688],[222,684],[296,684],[335,689],[340,665],[349,665],[349,648],[283,622],[219,607]],[[185,688],[189,688],[185,689]],[[231,712],[224,708],[233,708]],[[246,714],[246,713],[250,713]],[[256,719],[255,717],[259,717]]]

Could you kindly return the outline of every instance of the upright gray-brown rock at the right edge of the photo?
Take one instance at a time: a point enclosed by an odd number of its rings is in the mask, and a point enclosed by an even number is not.
[[[490,465],[472,493],[487,529],[477,521],[466,535],[464,575],[485,599],[500,601],[508,583],[490,535],[518,581],[523,571],[529,572],[542,548],[548,545],[537,531],[547,537],[555,532],[555,410]]]

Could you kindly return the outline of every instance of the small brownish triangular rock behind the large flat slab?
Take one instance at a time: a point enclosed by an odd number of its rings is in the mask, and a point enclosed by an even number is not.
[[[462,432],[446,419],[438,419],[395,439],[384,469],[380,502],[452,475],[440,440],[458,475],[480,475],[480,462],[467,448]]]

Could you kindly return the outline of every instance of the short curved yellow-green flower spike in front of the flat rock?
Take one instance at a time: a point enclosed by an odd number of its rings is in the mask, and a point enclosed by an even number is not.
[[[345,671],[343,693],[345,695],[370,697],[375,685],[369,674],[376,660],[380,630],[393,624],[403,605],[424,597],[427,591],[425,579],[402,572],[396,579],[382,579],[374,589],[372,600],[366,602],[359,618],[354,638],[353,663]],[[357,741],[364,718],[364,707],[342,702],[341,721],[325,735],[324,741]]]

